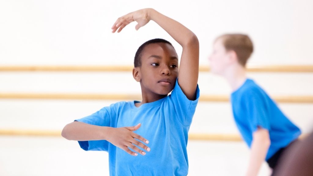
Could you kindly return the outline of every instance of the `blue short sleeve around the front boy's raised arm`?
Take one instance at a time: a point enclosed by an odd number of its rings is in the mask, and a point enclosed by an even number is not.
[[[196,89],[196,100],[189,100],[187,96],[182,91],[181,87],[178,84],[178,79],[176,80],[176,85],[170,95],[171,100],[173,101],[174,108],[178,117],[178,120],[184,126],[189,126],[192,122],[193,114],[195,113],[196,106],[198,104],[200,90],[197,85]]]

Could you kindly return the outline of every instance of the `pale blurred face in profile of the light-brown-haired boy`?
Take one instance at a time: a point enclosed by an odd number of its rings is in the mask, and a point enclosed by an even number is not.
[[[223,75],[226,67],[229,65],[229,54],[223,45],[222,39],[217,39],[213,44],[213,52],[208,59],[210,62],[211,72]]]

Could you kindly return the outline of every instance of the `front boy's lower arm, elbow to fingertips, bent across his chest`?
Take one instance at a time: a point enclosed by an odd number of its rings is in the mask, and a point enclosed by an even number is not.
[[[140,126],[141,124],[133,127],[113,128],[90,125],[83,122],[72,122],[63,128],[61,135],[68,140],[75,141],[106,140],[127,153],[137,156],[137,153],[132,152],[129,148],[132,148],[141,155],[145,155],[146,153],[143,153],[143,151],[137,148],[134,144],[146,151],[150,151],[150,148],[142,143],[149,143],[148,140],[133,132]],[[136,139],[142,142],[139,142]]]

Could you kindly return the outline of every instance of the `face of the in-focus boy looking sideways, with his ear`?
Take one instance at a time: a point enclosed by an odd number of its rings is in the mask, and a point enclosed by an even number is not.
[[[178,58],[175,49],[166,43],[147,45],[141,53],[141,67],[134,78],[141,83],[142,92],[167,95],[178,76]]]

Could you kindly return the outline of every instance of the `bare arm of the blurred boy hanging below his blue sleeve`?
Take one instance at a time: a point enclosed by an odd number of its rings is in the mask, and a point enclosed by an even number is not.
[[[269,131],[264,128],[258,128],[253,133],[250,161],[246,176],[258,175],[259,169],[266,158],[269,146],[270,146]]]

